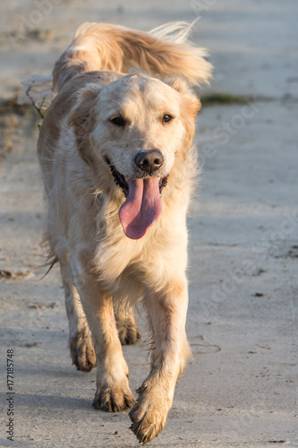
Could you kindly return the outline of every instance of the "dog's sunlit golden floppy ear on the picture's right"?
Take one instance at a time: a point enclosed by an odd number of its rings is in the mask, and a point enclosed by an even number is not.
[[[196,97],[194,92],[190,89],[187,82],[180,78],[167,78],[166,84],[175,89],[181,94],[181,119],[185,129],[185,136],[183,141],[183,148],[180,152],[183,159],[186,157],[192,140],[195,134],[196,116],[201,108],[200,99]]]

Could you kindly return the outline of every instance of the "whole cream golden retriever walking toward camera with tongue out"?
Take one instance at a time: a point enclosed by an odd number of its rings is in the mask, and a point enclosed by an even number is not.
[[[165,426],[191,354],[186,211],[200,101],[188,84],[209,82],[211,65],[187,42],[190,28],[83,24],[55,64],[57,94],[38,139],[46,239],[64,280],[73,364],[85,372],[97,364],[93,406],[132,408],[142,444]],[[121,345],[140,338],[137,301],[154,343],[135,401]]]

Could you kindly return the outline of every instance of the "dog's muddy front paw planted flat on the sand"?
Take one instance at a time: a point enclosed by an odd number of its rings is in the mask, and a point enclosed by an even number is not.
[[[106,412],[117,412],[132,408],[135,402],[129,387],[103,387],[96,392],[92,406],[95,409],[106,410]]]

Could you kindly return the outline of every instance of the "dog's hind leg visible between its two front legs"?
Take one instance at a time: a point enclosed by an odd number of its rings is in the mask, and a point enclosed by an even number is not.
[[[115,304],[114,312],[122,345],[135,344],[140,340],[140,328],[135,322],[132,306],[124,305],[120,302]]]

